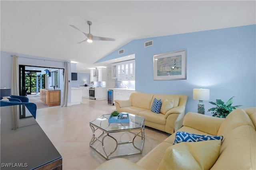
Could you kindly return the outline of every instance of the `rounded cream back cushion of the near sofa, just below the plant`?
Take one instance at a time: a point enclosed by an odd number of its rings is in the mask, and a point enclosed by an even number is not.
[[[225,134],[232,131],[232,129],[242,125],[250,125],[255,129],[248,114],[243,109],[237,108],[228,114],[220,125],[217,135],[225,136]]]

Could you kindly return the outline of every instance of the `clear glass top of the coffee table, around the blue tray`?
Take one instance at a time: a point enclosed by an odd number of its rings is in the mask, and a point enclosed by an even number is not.
[[[90,121],[90,124],[106,131],[106,132],[115,132],[115,131],[125,131],[129,129],[140,129],[144,126],[145,118],[142,116],[129,114],[129,123],[108,123],[110,114],[104,114],[96,119]]]

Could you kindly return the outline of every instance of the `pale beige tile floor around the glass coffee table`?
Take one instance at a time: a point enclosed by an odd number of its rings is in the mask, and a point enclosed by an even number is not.
[[[37,110],[36,121],[62,155],[63,170],[92,170],[106,161],[90,147],[92,130],[89,121],[110,113],[115,108],[108,105],[106,100],[82,98],[82,103],[79,105],[54,106]],[[137,162],[168,136],[168,133],[145,127],[142,154],[123,158]]]

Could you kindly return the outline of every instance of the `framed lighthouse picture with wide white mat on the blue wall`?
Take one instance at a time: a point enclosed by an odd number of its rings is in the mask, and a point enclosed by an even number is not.
[[[186,50],[154,55],[154,80],[186,80]]]

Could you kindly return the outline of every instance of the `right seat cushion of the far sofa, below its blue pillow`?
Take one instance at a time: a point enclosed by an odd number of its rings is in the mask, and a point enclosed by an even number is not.
[[[145,121],[154,122],[160,125],[166,124],[166,118],[164,118],[164,114],[162,113],[156,114],[150,110],[145,110],[138,113],[138,115],[145,117]]]

